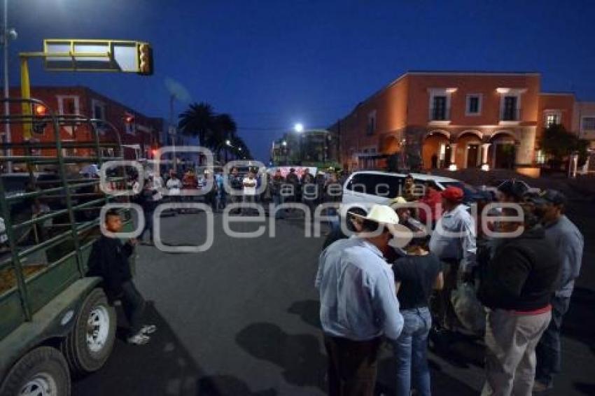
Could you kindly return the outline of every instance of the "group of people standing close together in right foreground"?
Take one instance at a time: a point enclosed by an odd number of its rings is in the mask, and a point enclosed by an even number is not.
[[[566,197],[505,181],[495,199],[507,205],[476,221],[460,188],[438,192],[426,185],[419,197],[412,184],[407,181],[391,206],[349,211],[343,219],[349,232],[335,229],[323,245],[315,286],[329,394],[372,395],[386,340],[393,346],[397,394],[430,395],[428,337],[463,330],[469,316],[484,334],[482,395],[552,388],[584,243],[564,215]],[[399,207],[410,201],[426,210]],[[489,201],[486,196],[477,204],[481,209]],[[419,237],[423,224],[428,236]],[[399,240],[403,233],[395,227],[416,237]],[[454,298],[457,293],[465,298]]]

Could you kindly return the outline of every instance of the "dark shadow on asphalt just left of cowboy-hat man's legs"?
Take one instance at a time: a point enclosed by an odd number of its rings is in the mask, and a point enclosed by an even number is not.
[[[325,389],[326,358],[313,335],[287,334],[272,323],[253,323],[237,334],[236,342],[255,358],[283,368],[288,383]]]

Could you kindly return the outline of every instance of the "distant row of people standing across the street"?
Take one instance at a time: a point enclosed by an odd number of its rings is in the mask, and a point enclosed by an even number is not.
[[[135,201],[143,208],[145,218],[145,228],[140,239],[148,233],[147,243],[153,243],[153,213],[162,201],[183,203],[201,200],[213,212],[225,210],[228,204],[243,204],[241,207],[232,208],[232,215],[250,215],[254,204],[272,203],[275,218],[278,219],[286,218],[292,211],[290,208],[278,209],[279,205],[302,203],[309,208],[309,215],[313,218],[316,205],[324,202],[338,204],[344,177],[345,174],[337,176],[330,171],[318,171],[318,174],[314,175],[308,168],[299,176],[293,168],[286,176],[281,174],[280,169],[272,173],[248,169],[246,174],[240,174],[237,167],[231,168],[228,174],[225,174],[223,169],[215,174],[206,169],[201,175],[197,175],[193,169],[187,169],[181,174],[170,169],[165,180],[157,174],[148,173],[142,190],[135,197]],[[263,178],[267,179],[264,187]],[[225,185],[228,185],[228,188],[225,188]],[[140,190],[139,181],[134,181],[133,188]],[[200,194],[197,193],[199,190]],[[165,191],[167,194],[164,195]],[[187,211],[188,209],[181,208],[174,213]],[[327,214],[335,213],[335,208],[330,208]]]

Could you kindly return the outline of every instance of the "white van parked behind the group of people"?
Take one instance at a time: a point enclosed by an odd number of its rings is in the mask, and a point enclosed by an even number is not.
[[[388,204],[391,199],[403,194],[405,189],[405,177],[408,174],[393,174],[382,171],[360,171],[354,172],[347,178],[343,185],[343,198],[340,212],[344,213],[354,206],[369,211],[373,204]],[[423,195],[421,187],[426,181],[432,181],[437,190],[444,190],[447,187],[458,187],[463,190],[466,197],[475,192],[470,185],[454,178],[443,176],[410,174],[416,185],[420,185],[419,195]],[[467,199],[465,199],[467,200]]]

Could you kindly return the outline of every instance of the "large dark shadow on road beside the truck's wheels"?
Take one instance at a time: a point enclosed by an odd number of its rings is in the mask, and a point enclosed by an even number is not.
[[[106,365],[72,384],[74,396],[274,396],[272,390],[252,393],[233,376],[204,376],[171,327],[149,302],[146,323],[157,325],[151,342],[132,346],[123,341],[126,320],[118,308],[118,337]]]

